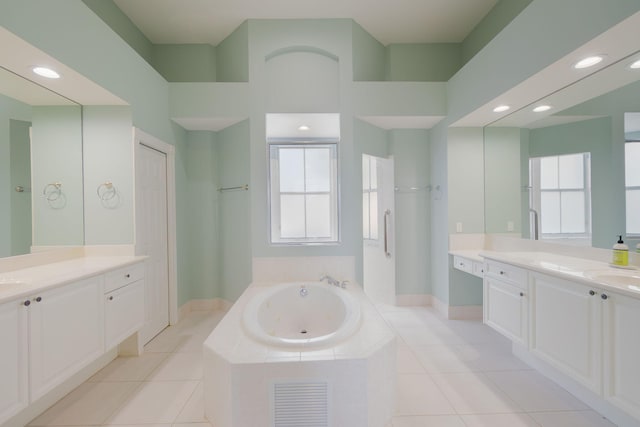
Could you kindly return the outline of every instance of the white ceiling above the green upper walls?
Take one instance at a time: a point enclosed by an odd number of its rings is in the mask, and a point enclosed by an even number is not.
[[[461,42],[497,0],[114,0],[155,44],[217,46],[246,19],[351,18],[378,41]]]

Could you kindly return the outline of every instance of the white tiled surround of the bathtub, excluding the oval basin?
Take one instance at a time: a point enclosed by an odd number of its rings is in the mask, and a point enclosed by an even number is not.
[[[204,342],[204,407],[212,424],[267,427],[280,425],[272,424],[276,416],[302,416],[296,425],[386,426],[395,407],[395,334],[360,286],[335,289],[360,306],[359,328],[311,348],[265,344],[244,331],[245,307],[273,286],[251,285]],[[318,420],[303,411],[302,395],[320,410]]]

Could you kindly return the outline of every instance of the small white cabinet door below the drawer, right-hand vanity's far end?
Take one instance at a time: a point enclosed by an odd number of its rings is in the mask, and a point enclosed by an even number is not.
[[[507,338],[527,342],[527,299],[525,292],[490,277],[484,280],[485,323]]]

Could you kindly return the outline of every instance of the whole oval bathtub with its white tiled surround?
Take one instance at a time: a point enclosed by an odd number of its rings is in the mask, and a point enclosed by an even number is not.
[[[203,370],[219,427],[385,427],[395,409],[395,334],[353,282],[250,285],[205,340]]]

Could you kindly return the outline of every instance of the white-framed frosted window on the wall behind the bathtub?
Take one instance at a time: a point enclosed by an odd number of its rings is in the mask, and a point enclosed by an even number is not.
[[[269,144],[272,243],[338,242],[337,144]]]

